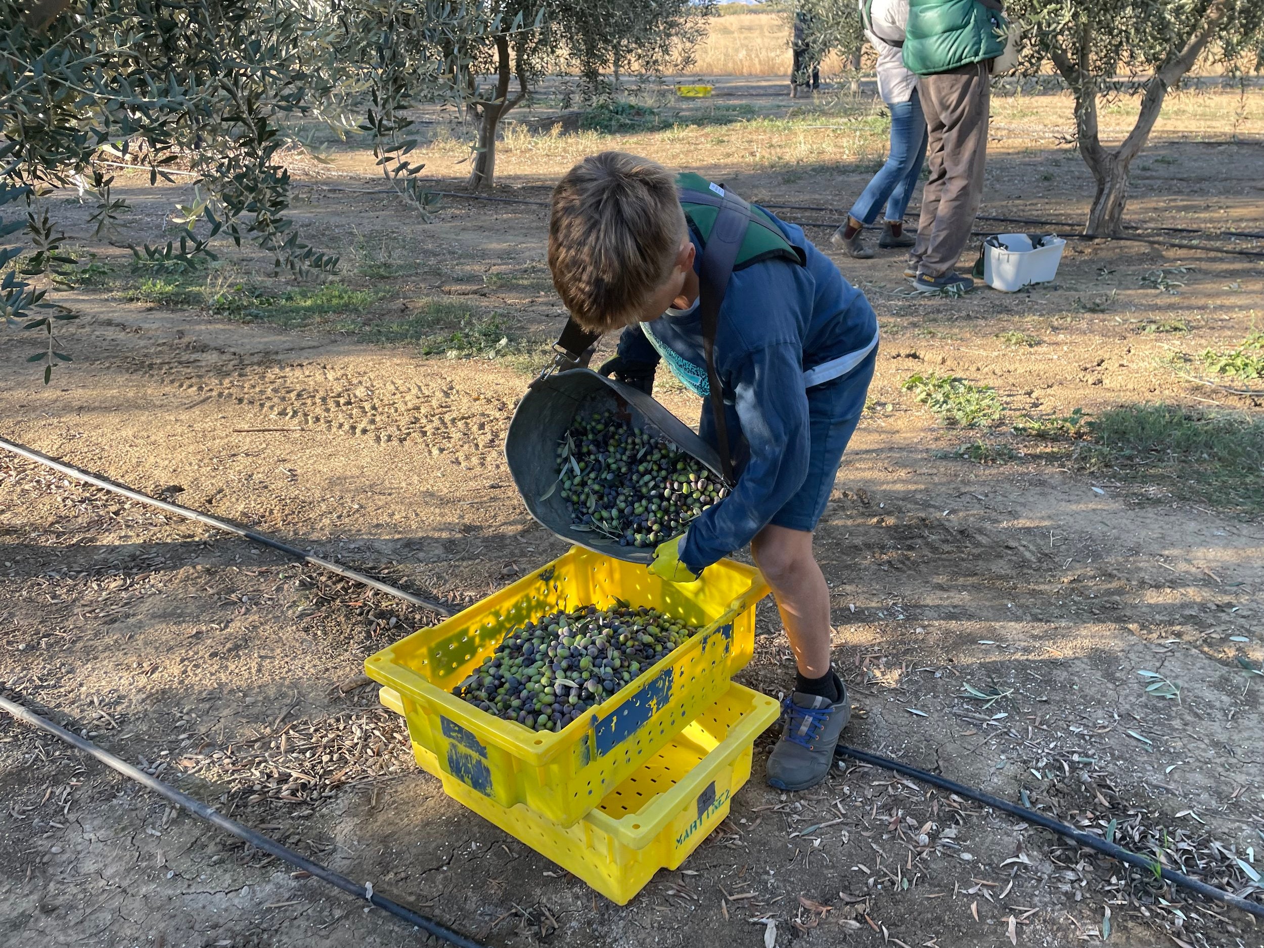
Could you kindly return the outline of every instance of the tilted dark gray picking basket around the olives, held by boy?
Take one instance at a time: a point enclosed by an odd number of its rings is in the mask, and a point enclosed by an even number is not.
[[[593,531],[575,530],[561,490],[550,493],[560,473],[557,445],[581,407],[626,408],[636,427],[662,435],[702,461],[717,480],[723,480],[719,455],[653,398],[592,369],[569,369],[540,379],[518,402],[504,439],[504,459],[531,516],[571,544],[628,562],[648,564],[653,560],[653,547],[619,546]]]

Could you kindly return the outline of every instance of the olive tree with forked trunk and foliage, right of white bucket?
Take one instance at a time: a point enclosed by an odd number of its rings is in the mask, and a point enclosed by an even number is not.
[[[1088,235],[1121,231],[1133,159],[1196,64],[1264,66],[1264,0],[1010,0],[1006,13],[1023,24],[1026,68],[1052,62],[1074,96],[1076,142],[1097,182]],[[1140,92],[1136,121],[1106,145],[1098,104],[1129,91]]]

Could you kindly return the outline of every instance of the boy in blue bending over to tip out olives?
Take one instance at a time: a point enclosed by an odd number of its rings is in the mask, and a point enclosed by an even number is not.
[[[696,174],[674,178],[646,158],[590,155],[554,191],[549,267],[575,322],[590,332],[622,330],[604,373],[650,392],[666,360],[698,396],[710,396],[712,379],[719,383],[724,423],[718,431],[708,401],[699,430],[712,444],[729,435],[737,483],[681,537],[661,544],[650,569],[694,581],[751,545],[798,665],[767,780],[804,790],[829,772],[849,715],[830,665],[829,589],[811,535],[865,410],[877,320],[801,228],[752,205],[723,288],[708,372],[700,296],[713,278],[699,274],[708,238],[719,230],[713,195],[732,200]],[[714,259],[720,245],[712,245]]]

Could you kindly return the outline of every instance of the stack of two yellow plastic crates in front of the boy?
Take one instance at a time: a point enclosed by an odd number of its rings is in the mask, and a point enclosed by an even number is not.
[[[758,571],[731,560],[690,585],[574,547],[545,569],[365,662],[417,762],[455,800],[627,902],[728,815],[777,703],[731,676],[755,647]],[[559,732],[453,694],[512,628],[559,609],[646,605],[702,631]]]

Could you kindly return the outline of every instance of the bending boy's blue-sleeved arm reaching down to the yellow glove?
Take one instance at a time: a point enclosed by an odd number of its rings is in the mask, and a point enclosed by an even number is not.
[[[694,574],[751,542],[808,474],[801,349],[776,344],[750,353],[731,382],[750,458],[733,493],[689,525],[680,561]]]

